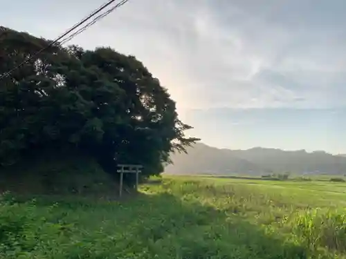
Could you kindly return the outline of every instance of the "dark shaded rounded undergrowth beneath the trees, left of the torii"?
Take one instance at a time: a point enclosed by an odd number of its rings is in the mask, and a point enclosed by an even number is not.
[[[69,150],[28,154],[0,174],[0,190],[18,194],[109,195],[115,186],[93,157]]]

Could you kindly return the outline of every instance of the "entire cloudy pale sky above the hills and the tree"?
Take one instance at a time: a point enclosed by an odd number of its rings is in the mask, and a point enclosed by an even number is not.
[[[0,0],[0,25],[55,39],[104,1]],[[346,153],[345,12],[345,0],[129,0],[70,43],[143,61],[211,146]]]

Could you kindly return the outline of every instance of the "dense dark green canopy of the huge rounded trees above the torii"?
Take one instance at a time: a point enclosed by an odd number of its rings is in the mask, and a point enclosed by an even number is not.
[[[50,42],[0,27],[0,75]],[[197,140],[189,128],[158,79],[111,48],[51,46],[0,81],[1,166],[69,147],[110,173],[121,162],[157,174],[171,151]]]

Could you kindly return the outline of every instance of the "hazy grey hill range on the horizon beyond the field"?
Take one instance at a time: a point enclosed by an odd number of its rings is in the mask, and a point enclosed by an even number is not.
[[[262,175],[264,173],[346,173],[346,157],[331,155],[325,151],[307,153],[283,151],[275,148],[251,148],[230,150],[215,148],[198,143],[188,148],[188,154],[171,155],[174,164],[166,167],[166,173],[180,174],[244,174]]]

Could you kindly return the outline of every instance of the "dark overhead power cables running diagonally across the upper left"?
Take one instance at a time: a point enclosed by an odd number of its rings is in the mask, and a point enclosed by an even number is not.
[[[44,52],[44,50],[47,50],[48,48],[50,48],[51,46],[53,46],[54,44],[58,44],[58,45],[62,45],[64,43],[66,43],[67,41],[70,41],[71,39],[73,39],[73,37],[75,37],[76,35],[84,32],[84,30],[86,30],[87,28],[89,28],[90,26],[92,26],[94,23],[96,23],[99,19],[102,19],[103,17],[109,15],[109,13],[113,12],[113,10],[115,10],[116,8],[122,6],[123,4],[125,4],[127,1],[129,0],[122,0],[120,1],[120,3],[116,4],[116,6],[113,6],[113,8],[110,8],[107,12],[104,12],[101,15],[98,15],[98,17],[96,17],[95,19],[93,19],[91,22],[87,23],[86,26],[83,26],[82,28],[80,28],[77,32],[74,32],[73,35],[69,36],[67,39],[63,39],[61,43],[59,43],[58,41],[60,41],[60,39],[64,38],[66,35],[69,35],[70,32],[73,32],[73,30],[75,30],[76,28],[78,28],[79,26],[81,26],[83,23],[85,23],[86,21],[88,21],[89,19],[91,19],[93,16],[97,15],[99,12],[101,12],[102,10],[104,10],[104,8],[107,8],[108,6],[110,6],[112,3],[114,3],[116,0],[110,0],[107,3],[102,4],[102,6],[100,6],[98,9],[94,10],[93,12],[91,12],[90,15],[88,15],[87,17],[85,17],[84,19],[82,19],[82,21],[76,23],[74,26],[72,26],[71,28],[69,28],[69,30],[67,30],[66,32],[64,32],[62,35],[60,35],[59,37],[57,37],[57,39],[55,39],[54,41],[52,41],[50,44],[48,44],[48,46],[46,46],[45,48],[42,48],[41,50],[37,51],[34,55],[28,57],[27,59],[24,59],[23,62],[21,62],[21,64],[19,64],[18,66],[16,66],[15,68],[12,68],[11,70],[9,70],[8,72],[6,72],[3,75],[0,75],[0,80],[8,77],[8,75],[10,75],[13,71],[15,71],[16,69],[20,68],[21,66],[23,66],[24,64],[26,64],[28,61],[30,61],[31,59],[33,59],[34,57],[37,57],[37,55],[39,55],[40,53]]]

